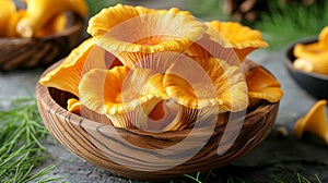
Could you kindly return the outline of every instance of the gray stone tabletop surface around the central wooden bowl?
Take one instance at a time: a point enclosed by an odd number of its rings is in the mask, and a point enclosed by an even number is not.
[[[277,122],[269,137],[247,156],[232,164],[215,170],[216,174],[238,176],[250,182],[272,182],[274,178],[296,181],[291,172],[296,171],[315,180],[317,174],[323,182],[328,182],[328,146],[314,135],[306,134],[297,141],[293,134],[295,121],[316,101],[302,90],[290,77],[283,64],[283,52],[256,51],[250,59],[266,66],[282,83],[284,97],[280,103]],[[36,81],[42,69],[14,71],[0,74],[0,109],[10,107],[12,99],[33,96]],[[289,135],[282,137],[277,127],[285,127]],[[49,136],[45,141],[49,159],[44,163],[56,164],[50,178],[61,176],[68,183],[90,182],[129,182],[101,170],[75,157]],[[168,181],[168,180],[167,180]],[[60,181],[59,181],[60,182]],[[137,181],[132,181],[137,182]]]

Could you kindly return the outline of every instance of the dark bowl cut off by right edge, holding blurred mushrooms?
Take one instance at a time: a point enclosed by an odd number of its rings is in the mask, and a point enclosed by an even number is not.
[[[328,99],[328,76],[297,70],[293,66],[295,60],[294,46],[296,44],[312,44],[316,38],[297,40],[285,49],[285,65],[292,78],[308,94],[318,99]],[[327,58],[328,59],[328,58]]]

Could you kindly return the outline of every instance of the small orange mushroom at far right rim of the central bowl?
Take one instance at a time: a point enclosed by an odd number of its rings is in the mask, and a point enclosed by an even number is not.
[[[283,96],[280,83],[263,68],[256,66],[245,73],[250,99],[279,101]]]

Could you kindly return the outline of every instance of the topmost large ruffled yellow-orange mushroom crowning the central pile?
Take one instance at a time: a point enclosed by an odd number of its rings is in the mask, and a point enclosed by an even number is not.
[[[125,65],[160,51],[183,52],[202,37],[206,26],[176,8],[153,10],[117,4],[90,20],[87,33]]]

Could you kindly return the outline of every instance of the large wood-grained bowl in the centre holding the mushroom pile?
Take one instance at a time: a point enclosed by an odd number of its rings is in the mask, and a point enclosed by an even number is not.
[[[279,108],[279,102],[263,101],[247,113],[233,113],[229,123],[153,133],[81,118],[66,110],[71,97],[69,93],[37,84],[38,109],[50,134],[94,166],[120,176],[148,181],[206,172],[245,156],[270,133]]]

